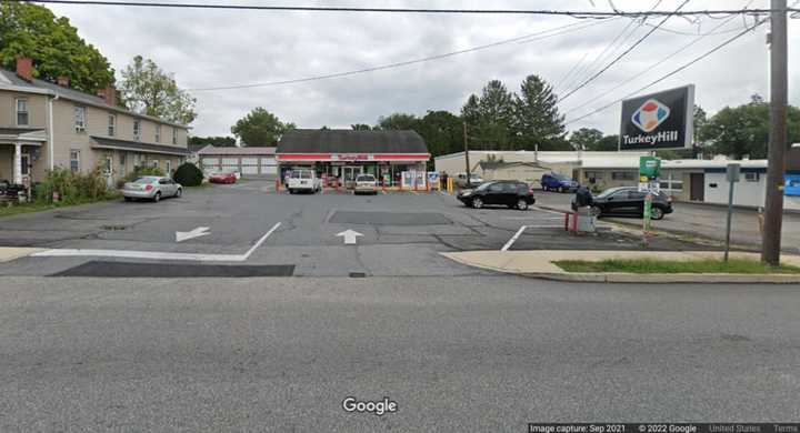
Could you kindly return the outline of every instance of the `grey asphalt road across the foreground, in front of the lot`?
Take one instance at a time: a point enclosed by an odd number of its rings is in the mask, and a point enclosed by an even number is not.
[[[0,431],[797,422],[798,311],[797,286],[3,278]]]

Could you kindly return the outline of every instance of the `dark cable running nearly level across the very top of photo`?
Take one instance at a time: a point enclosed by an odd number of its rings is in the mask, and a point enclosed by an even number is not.
[[[27,0],[6,0],[24,2]],[[180,9],[229,9],[229,10],[261,10],[261,11],[293,11],[293,12],[380,12],[380,13],[463,13],[463,14],[537,14],[561,16],[572,18],[610,18],[610,17],[690,17],[714,14],[766,14],[772,9],[718,9],[691,10],[682,12],[671,11],[577,11],[551,9],[426,9],[426,8],[348,8],[322,6],[256,6],[256,4],[224,4],[224,3],[169,3],[142,1],[106,1],[106,0],[37,0],[38,3],[50,4],[79,4],[79,6],[117,6],[137,8],[180,8]],[[800,9],[789,8],[788,12],[800,12]]]

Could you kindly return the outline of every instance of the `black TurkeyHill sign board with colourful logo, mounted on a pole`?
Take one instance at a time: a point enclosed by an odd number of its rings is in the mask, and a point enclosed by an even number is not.
[[[693,84],[627,99],[619,149],[691,148],[693,112]]]

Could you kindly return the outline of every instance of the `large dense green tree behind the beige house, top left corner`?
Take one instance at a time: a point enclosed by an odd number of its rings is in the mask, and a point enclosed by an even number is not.
[[[32,2],[0,1],[0,67],[13,70],[20,56],[33,59],[33,77],[67,77],[70,87],[88,93],[114,81],[108,59],[78,36],[69,19]]]

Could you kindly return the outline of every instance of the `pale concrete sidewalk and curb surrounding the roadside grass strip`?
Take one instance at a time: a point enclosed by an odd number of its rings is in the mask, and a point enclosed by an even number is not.
[[[463,251],[440,253],[456,262],[491,271],[558,281],[639,283],[800,283],[798,274],[633,274],[567,272],[552,262],[610,259],[698,260],[722,259],[719,251]],[[759,260],[758,253],[731,252],[731,259]],[[800,255],[783,254],[781,262],[800,266]]]

